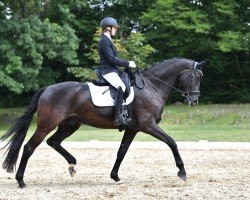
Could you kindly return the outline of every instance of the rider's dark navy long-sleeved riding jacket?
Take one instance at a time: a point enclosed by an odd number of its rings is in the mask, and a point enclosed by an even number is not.
[[[113,42],[104,34],[98,43],[98,53],[100,56],[100,69],[102,75],[110,72],[119,74],[119,67],[129,67],[129,61],[117,58],[117,49]]]

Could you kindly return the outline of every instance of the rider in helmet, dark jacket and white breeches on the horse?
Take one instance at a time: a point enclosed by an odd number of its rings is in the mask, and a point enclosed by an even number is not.
[[[117,21],[112,17],[105,17],[100,25],[102,35],[98,43],[98,53],[100,56],[99,73],[117,89],[115,98],[115,124],[127,125],[131,119],[125,118],[121,111],[126,86],[119,77],[120,70],[118,66],[135,68],[136,64],[134,61],[117,58],[117,49],[112,42],[112,37],[115,36],[119,27]]]

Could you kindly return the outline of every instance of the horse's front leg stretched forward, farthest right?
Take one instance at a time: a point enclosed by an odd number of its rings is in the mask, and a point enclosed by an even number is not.
[[[151,136],[165,142],[173,152],[176,166],[179,168],[178,176],[186,181],[186,171],[184,163],[181,159],[178,147],[173,138],[167,135],[157,124],[153,123],[150,127],[147,127],[143,132],[150,134]]]

